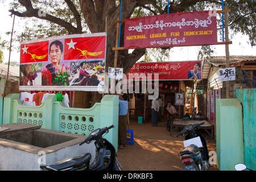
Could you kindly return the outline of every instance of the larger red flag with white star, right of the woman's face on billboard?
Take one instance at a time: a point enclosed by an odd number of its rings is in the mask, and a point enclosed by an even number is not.
[[[64,60],[105,59],[106,36],[65,39]]]

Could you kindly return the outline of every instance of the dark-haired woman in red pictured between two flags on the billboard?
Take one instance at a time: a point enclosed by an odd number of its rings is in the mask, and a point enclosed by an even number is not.
[[[51,63],[46,65],[42,71],[42,85],[52,86],[57,85],[56,73],[65,72],[65,68],[60,65],[60,60],[63,57],[63,43],[59,40],[53,41],[49,46],[49,59]]]

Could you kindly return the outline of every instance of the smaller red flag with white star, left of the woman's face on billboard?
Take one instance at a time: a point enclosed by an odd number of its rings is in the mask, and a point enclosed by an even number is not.
[[[20,63],[48,61],[48,41],[20,45]]]

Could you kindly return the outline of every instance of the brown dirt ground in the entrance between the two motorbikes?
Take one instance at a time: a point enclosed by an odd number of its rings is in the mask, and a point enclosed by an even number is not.
[[[122,171],[182,171],[183,164],[178,156],[183,149],[184,137],[176,137],[178,131],[166,130],[166,118],[152,127],[150,121],[139,124],[130,118],[130,129],[134,133],[134,145],[126,144],[124,149],[118,149],[117,159]],[[201,130],[199,130],[201,131]],[[209,151],[216,151],[216,141],[205,137]],[[212,171],[218,171],[213,165]]]

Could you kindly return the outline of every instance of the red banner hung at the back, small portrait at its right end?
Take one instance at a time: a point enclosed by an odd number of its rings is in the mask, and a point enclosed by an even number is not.
[[[156,63],[135,63],[128,73],[127,78],[135,80],[146,76],[149,79],[152,74],[158,74],[159,80],[200,80],[201,61],[179,61],[179,62],[156,62]]]

